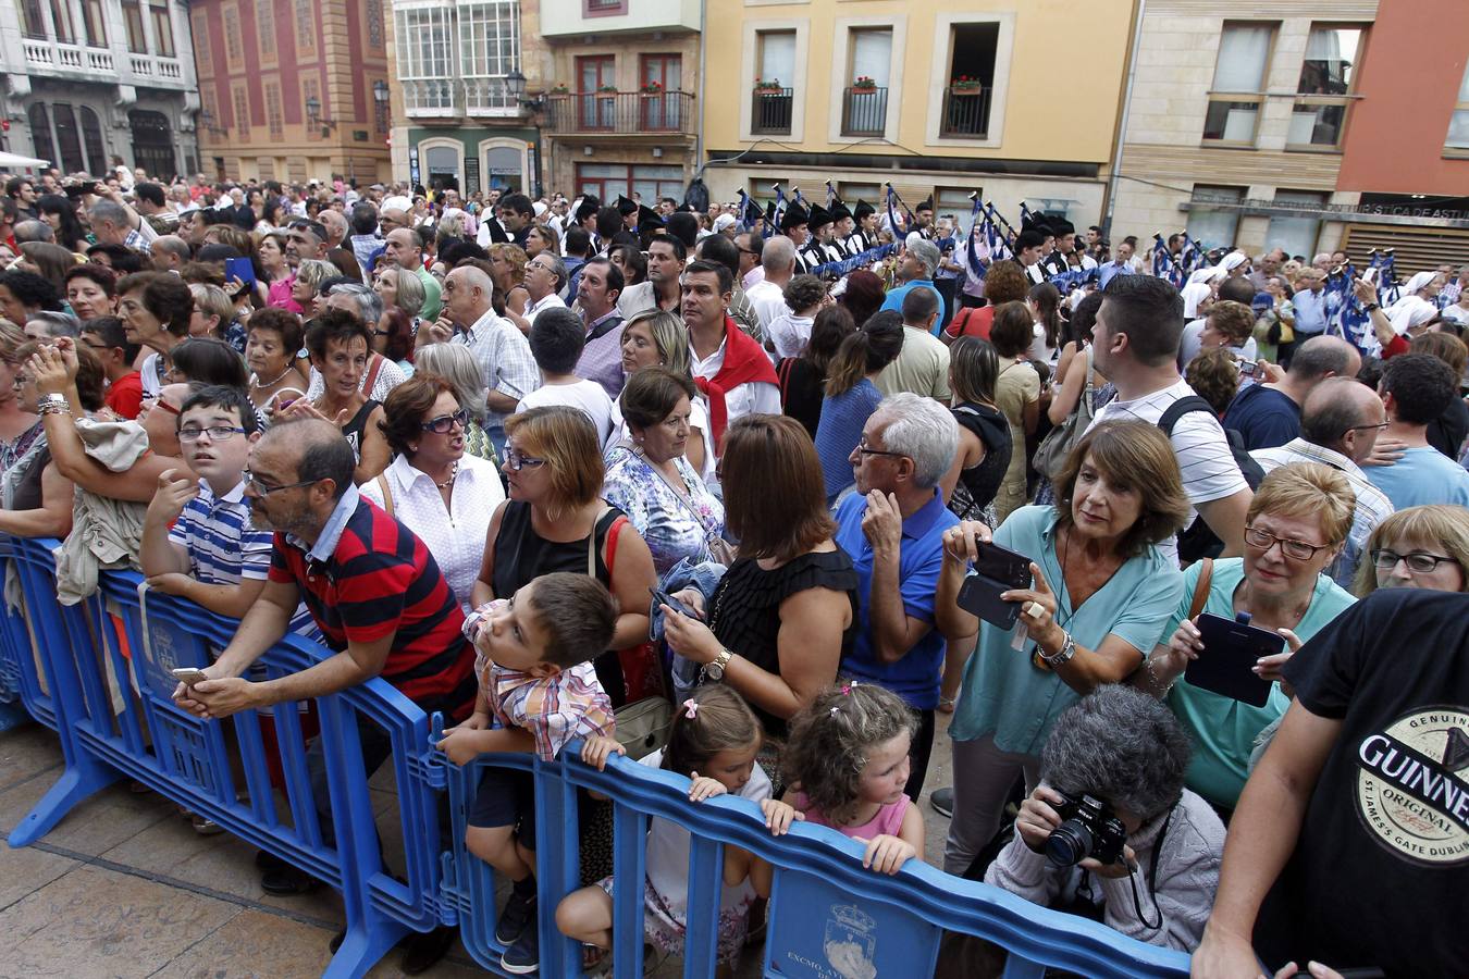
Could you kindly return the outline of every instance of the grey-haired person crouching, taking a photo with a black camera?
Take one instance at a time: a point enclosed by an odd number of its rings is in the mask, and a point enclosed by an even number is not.
[[[1130,687],[1097,687],[1062,713],[1043,784],[984,882],[1191,953],[1219,884],[1224,823],[1184,788],[1188,734]]]

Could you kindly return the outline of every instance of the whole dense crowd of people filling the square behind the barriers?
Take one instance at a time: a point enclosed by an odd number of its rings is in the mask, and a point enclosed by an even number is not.
[[[632,749],[883,873],[924,859],[950,713],[950,873],[1200,976],[1463,960],[1410,909],[1469,885],[1469,266],[1385,310],[1359,283],[1363,349],[1321,298],[1344,255],[1231,251],[1178,289],[1058,216],[978,261],[930,201],[4,186],[0,533],[63,540],[63,602],[132,567],[238,618],[181,707],[380,677],[452,719],[455,763]],[[328,655],[251,672],[286,631]],[[642,753],[618,718],[649,702]],[[370,772],[391,744],[361,738]],[[466,838],[513,885],[516,975],[539,963],[535,806],[486,768]],[[667,953],[689,845],[654,820]],[[555,920],[591,963],[596,832],[582,865]],[[726,848],[723,963],[770,885]]]

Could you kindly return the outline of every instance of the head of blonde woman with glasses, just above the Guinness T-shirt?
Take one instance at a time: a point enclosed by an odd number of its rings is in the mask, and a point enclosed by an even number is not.
[[[1372,530],[1366,555],[1353,586],[1360,599],[1378,589],[1469,592],[1469,509],[1400,509]]]

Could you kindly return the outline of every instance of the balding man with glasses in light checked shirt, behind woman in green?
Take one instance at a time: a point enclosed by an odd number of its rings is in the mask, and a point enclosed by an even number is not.
[[[1327,568],[1327,574],[1344,589],[1351,587],[1368,537],[1393,514],[1387,493],[1374,486],[1362,471],[1362,461],[1372,455],[1384,429],[1387,408],[1375,390],[1356,377],[1331,377],[1306,396],[1297,437],[1277,448],[1250,452],[1250,458],[1266,473],[1291,462],[1324,462],[1351,483],[1351,492],[1357,495],[1351,530],[1347,531],[1341,553]]]

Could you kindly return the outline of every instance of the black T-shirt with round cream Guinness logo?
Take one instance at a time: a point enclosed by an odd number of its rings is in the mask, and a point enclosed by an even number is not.
[[[1256,951],[1272,969],[1469,975],[1469,594],[1374,592],[1284,674],[1341,734]]]

